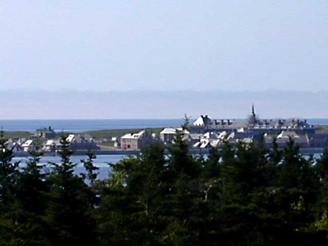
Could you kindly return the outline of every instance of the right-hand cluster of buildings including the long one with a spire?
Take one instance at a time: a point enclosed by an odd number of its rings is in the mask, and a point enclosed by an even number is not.
[[[182,128],[163,129],[158,136],[148,134],[146,130],[130,133],[120,138],[121,148],[140,149],[151,141],[161,141],[170,145],[177,131]],[[183,138],[193,148],[220,147],[224,141],[236,145],[238,141],[256,142],[264,136],[265,146],[271,148],[276,138],[279,148],[283,148],[290,138],[301,148],[323,148],[328,146],[328,134],[318,133],[317,128],[301,119],[259,119],[254,105],[247,120],[211,119],[201,115],[183,131]]]

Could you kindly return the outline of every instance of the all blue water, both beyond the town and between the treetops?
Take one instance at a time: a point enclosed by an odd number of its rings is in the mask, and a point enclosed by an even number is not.
[[[192,120],[191,120],[192,122]],[[308,119],[309,124],[328,125],[328,119]],[[92,130],[111,130],[111,129],[142,129],[153,127],[180,126],[182,119],[73,119],[73,120],[0,120],[0,126],[6,131],[28,131],[34,132],[37,128],[51,126],[56,131],[84,132]],[[116,163],[126,155],[98,155],[94,160],[95,166],[99,167],[98,178],[108,177],[111,171],[108,163]],[[85,172],[81,159],[86,156],[72,156],[71,160],[78,163],[74,170],[75,174]],[[15,157],[14,160],[22,160],[22,165],[26,162],[25,157]],[[48,161],[59,163],[59,157],[45,156],[41,162],[47,164]]]

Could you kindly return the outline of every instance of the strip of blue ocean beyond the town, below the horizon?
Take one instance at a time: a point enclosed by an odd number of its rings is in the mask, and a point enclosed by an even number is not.
[[[193,122],[193,119],[190,120]],[[308,119],[312,125],[328,125],[328,118]],[[153,127],[177,127],[183,119],[37,119],[0,120],[5,131],[35,132],[37,128],[52,127],[55,131],[84,132],[92,130],[144,129]]]

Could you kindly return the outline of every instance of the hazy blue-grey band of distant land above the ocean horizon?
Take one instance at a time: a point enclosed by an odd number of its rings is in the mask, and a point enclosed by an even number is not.
[[[78,88],[80,89],[80,88]],[[328,118],[328,91],[0,91],[0,119]]]

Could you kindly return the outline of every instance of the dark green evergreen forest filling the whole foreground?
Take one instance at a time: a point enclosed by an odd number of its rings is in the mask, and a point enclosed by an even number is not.
[[[304,157],[225,142],[193,156],[184,131],[165,150],[153,144],[111,164],[96,180],[95,156],[76,163],[62,137],[50,173],[33,151],[18,170],[0,139],[0,245],[321,245],[328,241],[328,149]],[[5,150],[5,151],[3,151]]]

